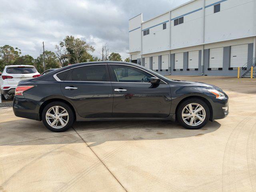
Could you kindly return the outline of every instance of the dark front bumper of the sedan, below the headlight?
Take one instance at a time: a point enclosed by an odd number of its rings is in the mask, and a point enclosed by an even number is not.
[[[212,105],[212,120],[226,118],[229,114],[228,98],[209,99]]]

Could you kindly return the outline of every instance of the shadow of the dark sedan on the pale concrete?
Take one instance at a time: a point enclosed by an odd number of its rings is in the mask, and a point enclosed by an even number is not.
[[[21,119],[0,123],[0,145],[50,145],[86,142],[97,146],[111,141],[170,140],[200,137],[220,128],[216,121],[188,130],[170,121],[76,122],[66,132],[51,132],[42,122]],[[79,134],[79,135],[78,135]],[[82,139],[81,139],[82,138]]]

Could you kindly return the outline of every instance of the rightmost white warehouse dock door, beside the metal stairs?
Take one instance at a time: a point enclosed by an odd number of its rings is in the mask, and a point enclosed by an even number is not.
[[[230,67],[241,67],[248,59],[248,44],[231,46]]]

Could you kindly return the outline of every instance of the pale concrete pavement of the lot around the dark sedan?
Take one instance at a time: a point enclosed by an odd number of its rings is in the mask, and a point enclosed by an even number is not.
[[[229,116],[200,130],[124,121],[54,133],[0,108],[0,192],[256,191],[256,80],[170,78],[219,86]]]

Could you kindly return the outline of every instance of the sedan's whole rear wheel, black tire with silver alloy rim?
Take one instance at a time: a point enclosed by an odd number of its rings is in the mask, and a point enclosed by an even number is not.
[[[56,112],[56,110],[58,111]],[[49,130],[53,132],[64,132],[74,123],[74,112],[68,104],[54,101],[44,107],[42,121],[44,126]],[[52,126],[50,125],[51,123],[53,124]]]

